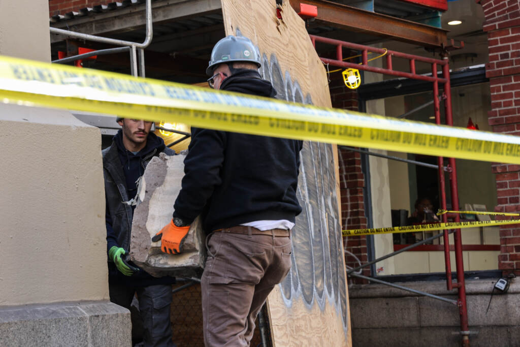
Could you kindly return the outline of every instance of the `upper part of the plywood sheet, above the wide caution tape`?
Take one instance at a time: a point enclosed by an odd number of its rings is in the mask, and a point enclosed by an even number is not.
[[[258,47],[265,78],[278,87],[283,86],[282,81],[290,85],[277,88],[278,98],[303,102],[311,96],[314,105],[332,107],[323,63],[310,42],[304,21],[288,1],[281,7],[282,19],[276,17],[275,0],[222,0],[222,14],[226,35],[241,33]],[[272,70],[271,75],[266,67]],[[291,81],[287,81],[287,75]],[[303,95],[294,95],[294,83]]]

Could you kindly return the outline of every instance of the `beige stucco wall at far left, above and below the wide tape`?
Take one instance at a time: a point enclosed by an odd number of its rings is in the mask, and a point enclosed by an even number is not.
[[[47,0],[0,0],[0,55],[50,60]],[[101,135],[0,103],[0,306],[108,300]]]

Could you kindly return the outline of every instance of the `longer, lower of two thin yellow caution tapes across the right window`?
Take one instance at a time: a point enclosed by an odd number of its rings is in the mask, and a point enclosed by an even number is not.
[[[426,223],[407,226],[393,226],[390,228],[373,228],[373,229],[350,229],[343,230],[343,236],[361,236],[375,234],[393,234],[393,233],[417,233],[429,232],[431,230],[448,230],[463,229],[479,226],[508,225],[520,224],[520,219],[503,220],[503,221],[477,221],[477,222],[448,222],[448,223]]]

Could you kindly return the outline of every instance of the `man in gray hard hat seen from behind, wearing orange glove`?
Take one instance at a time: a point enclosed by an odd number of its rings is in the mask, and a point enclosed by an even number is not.
[[[227,36],[211,55],[211,87],[274,97],[261,79],[254,45]],[[291,267],[291,228],[302,142],[192,128],[173,220],[154,237],[163,252],[181,252],[190,223],[202,215],[212,232],[202,275],[206,346],[247,346],[269,292]]]

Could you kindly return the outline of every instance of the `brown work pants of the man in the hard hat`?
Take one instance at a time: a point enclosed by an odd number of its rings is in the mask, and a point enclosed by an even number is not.
[[[206,347],[249,346],[258,311],[291,268],[289,232],[252,229],[257,233],[215,232],[207,242],[201,280]]]

